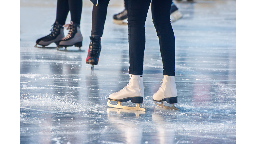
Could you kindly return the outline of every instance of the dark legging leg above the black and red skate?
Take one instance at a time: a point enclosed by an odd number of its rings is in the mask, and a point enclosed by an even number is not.
[[[102,37],[104,24],[107,16],[109,0],[98,0],[98,5],[93,5],[92,8],[92,36]]]

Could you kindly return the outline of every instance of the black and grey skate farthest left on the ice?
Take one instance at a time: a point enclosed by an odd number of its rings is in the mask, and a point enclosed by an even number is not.
[[[45,47],[51,43],[56,43],[58,47],[59,41],[64,38],[64,28],[57,21],[52,25],[51,33],[45,37],[42,37],[36,40],[35,47],[37,48],[56,48],[56,47]],[[38,47],[37,45],[41,45],[42,47]]]

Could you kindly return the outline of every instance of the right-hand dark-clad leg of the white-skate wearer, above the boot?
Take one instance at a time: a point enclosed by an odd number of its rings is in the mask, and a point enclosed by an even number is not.
[[[175,38],[170,23],[170,0],[152,0],[152,18],[159,38],[164,75],[175,75]]]

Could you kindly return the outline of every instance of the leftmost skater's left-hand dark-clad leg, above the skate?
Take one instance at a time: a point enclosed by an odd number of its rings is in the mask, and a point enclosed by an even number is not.
[[[68,0],[58,0],[57,1],[57,13],[56,13],[56,21],[59,22],[60,25],[64,25],[69,12],[69,3]]]

